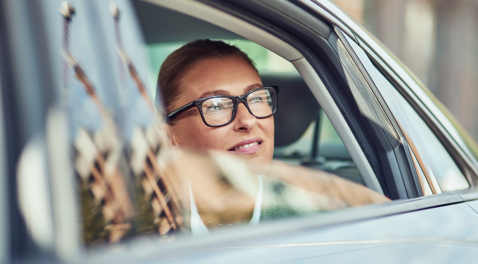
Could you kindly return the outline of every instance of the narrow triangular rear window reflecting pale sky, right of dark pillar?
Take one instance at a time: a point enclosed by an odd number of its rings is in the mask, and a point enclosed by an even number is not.
[[[365,52],[353,41],[348,41],[366,67],[380,94],[398,122],[411,151],[420,164],[420,179],[424,173],[433,193],[442,193],[469,188],[469,184],[456,163],[432,130],[413,109],[402,94],[371,63]],[[427,187],[428,188],[428,187]],[[426,188],[426,189],[427,189]]]

